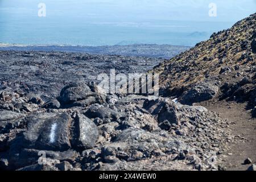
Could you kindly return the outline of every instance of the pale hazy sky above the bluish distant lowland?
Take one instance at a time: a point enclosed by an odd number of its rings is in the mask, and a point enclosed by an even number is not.
[[[255,0],[0,0],[0,13],[37,16],[39,2],[46,4],[47,15],[51,18],[82,17],[85,22],[102,23],[149,20],[236,22],[256,10]],[[217,5],[217,17],[208,16],[211,2]]]

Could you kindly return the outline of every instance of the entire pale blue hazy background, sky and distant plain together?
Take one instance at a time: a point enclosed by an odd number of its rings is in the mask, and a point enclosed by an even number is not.
[[[210,17],[209,3],[217,16]],[[38,4],[46,4],[46,17]],[[0,43],[194,46],[255,13],[254,0],[0,0]]]

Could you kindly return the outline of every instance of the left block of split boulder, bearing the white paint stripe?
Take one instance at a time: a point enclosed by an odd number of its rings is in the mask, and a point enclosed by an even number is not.
[[[71,117],[67,113],[28,122],[23,133],[23,147],[38,150],[64,151],[71,148],[69,141]]]

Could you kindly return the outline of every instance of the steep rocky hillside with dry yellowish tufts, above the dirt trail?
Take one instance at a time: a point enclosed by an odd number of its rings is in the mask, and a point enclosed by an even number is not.
[[[256,14],[214,33],[152,72],[160,73],[164,96],[179,97],[191,105],[212,98],[249,102],[256,96]],[[253,115],[255,116],[255,109]]]

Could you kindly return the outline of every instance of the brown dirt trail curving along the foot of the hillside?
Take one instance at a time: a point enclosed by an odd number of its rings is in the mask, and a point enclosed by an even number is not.
[[[245,109],[246,104],[215,102],[201,105],[226,119],[227,127],[236,138],[231,143],[230,151],[226,152],[221,166],[229,171],[245,171],[251,165],[243,165],[245,159],[250,158],[256,163],[256,119],[251,118],[250,111]]]

